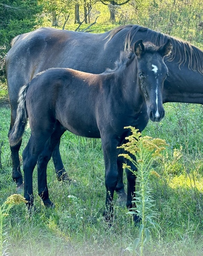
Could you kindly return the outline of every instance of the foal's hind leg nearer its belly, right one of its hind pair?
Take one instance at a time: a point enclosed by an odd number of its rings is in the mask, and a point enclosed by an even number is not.
[[[47,187],[47,164],[52,156],[52,152],[55,148],[55,145],[57,145],[64,131],[65,129],[61,129],[61,127],[56,129],[54,133],[51,135],[51,137],[49,137],[49,139],[46,141],[44,150],[38,157],[38,195],[41,197],[46,207],[54,207],[54,204],[49,199],[49,191]]]

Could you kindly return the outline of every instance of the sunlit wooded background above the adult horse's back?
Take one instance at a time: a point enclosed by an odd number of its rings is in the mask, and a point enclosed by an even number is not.
[[[16,35],[40,26],[90,32],[139,24],[174,35],[197,46],[203,43],[202,0],[3,0],[0,3],[0,47],[8,51]],[[75,26],[74,26],[75,24]]]

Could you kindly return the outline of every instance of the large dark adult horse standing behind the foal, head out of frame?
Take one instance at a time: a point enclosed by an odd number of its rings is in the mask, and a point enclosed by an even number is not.
[[[16,119],[19,90],[38,72],[51,67],[69,67],[84,72],[102,73],[107,67],[113,68],[120,52],[135,41],[143,39],[162,45],[168,38],[171,38],[173,51],[165,58],[169,76],[164,84],[163,103],[203,104],[203,52],[168,35],[138,25],[127,25],[103,34],[41,28],[17,36],[6,56],[6,76],[11,105],[10,131]],[[17,183],[17,188],[23,183],[18,156],[20,145],[21,141],[11,146],[12,177]],[[59,153],[59,143],[52,157],[58,178],[66,176]],[[122,172],[122,163],[119,170]],[[119,175],[116,192],[119,196],[125,197],[122,175]]]

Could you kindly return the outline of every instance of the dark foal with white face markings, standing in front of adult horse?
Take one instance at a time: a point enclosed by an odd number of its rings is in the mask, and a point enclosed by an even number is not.
[[[24,196],[29,207],[34,201],[32,173],[37,163],[38,194],[45,206],[53,206],[46,167],[55,145],[64,131],[69,130],[79,136],[102,139],[105,204],[112,214],[113,193],[119,177],[117,146],[130,132],[125,126],[132,125],[142,131],[149,118],[154,122],[163,118],[162,91],[168,74],[163,57],[171,47],[170,39],[159,48],[151,43],[143,44],[140,39],[133,49],[122,52],[115,70],[96,75],[52,68],[22,87],[9,142],[14,146],[21,140],[29,118],[31,136],[23,151]],[[132,207],[135,176],[128,170],[127,178],[127,206]],[[108,219],[107,212],[104,210]]]

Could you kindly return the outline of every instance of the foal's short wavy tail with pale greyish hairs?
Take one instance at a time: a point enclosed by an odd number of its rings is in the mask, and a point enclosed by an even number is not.
[[[10,146],[14,146],[23,137],[23,133],[26,128],[28,114],[26,109],[26,92],[30,84],[24,85],[19,92],[18,106],[17,106],[17,116],[15,119],[14,126],[11,133],[9,134],[9,143]]]

